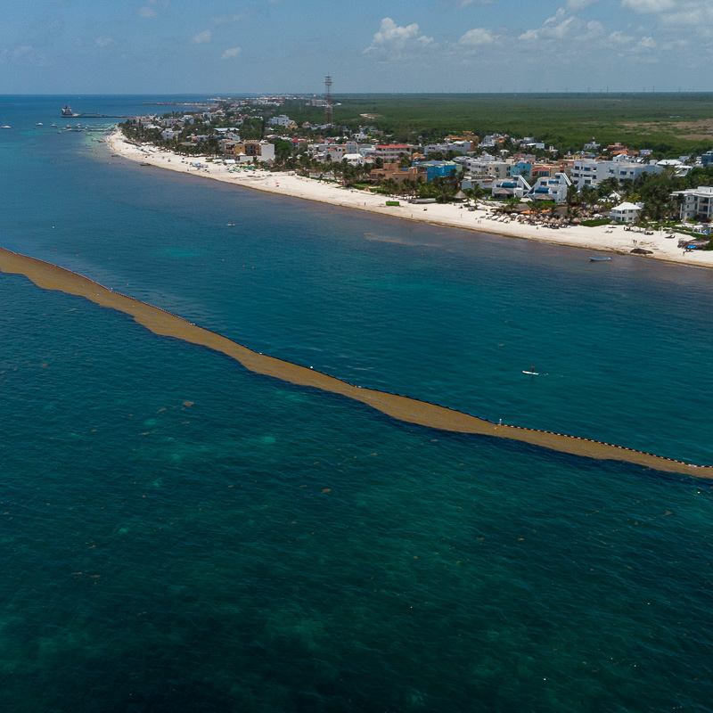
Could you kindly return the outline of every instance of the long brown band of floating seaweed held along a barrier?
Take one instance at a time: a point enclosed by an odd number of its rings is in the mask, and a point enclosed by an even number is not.
[[[37,287],[44,290],[77,295],[101,307],[109,307],[133,316],[135,322],[142,324],[154,334],[173,337],[221,352],[233,358],[252,373],[347,397],[365,404],[365,406],[371,406],[375,411],[400,422],[414,423],[426,428],[455,433],[505,438],[594,460],[633,463],[655,471],[713,479],[713,466],[710,465],[685,463],[666,456],[565,433],[495,423],[448,406],[438,406],[418,398],[350,384],[311,367],[293,364],[275,356],[259,354],[239,342],[229,340],[217,332],[188,322],[183,317],[171,314],[160,307],[154,307],[121,292],[112,291],[88,277],[71,272],[64,267],[53,265],[45,260],[29,258],[12,250],[0,248],[0,272],[24,275]]]

